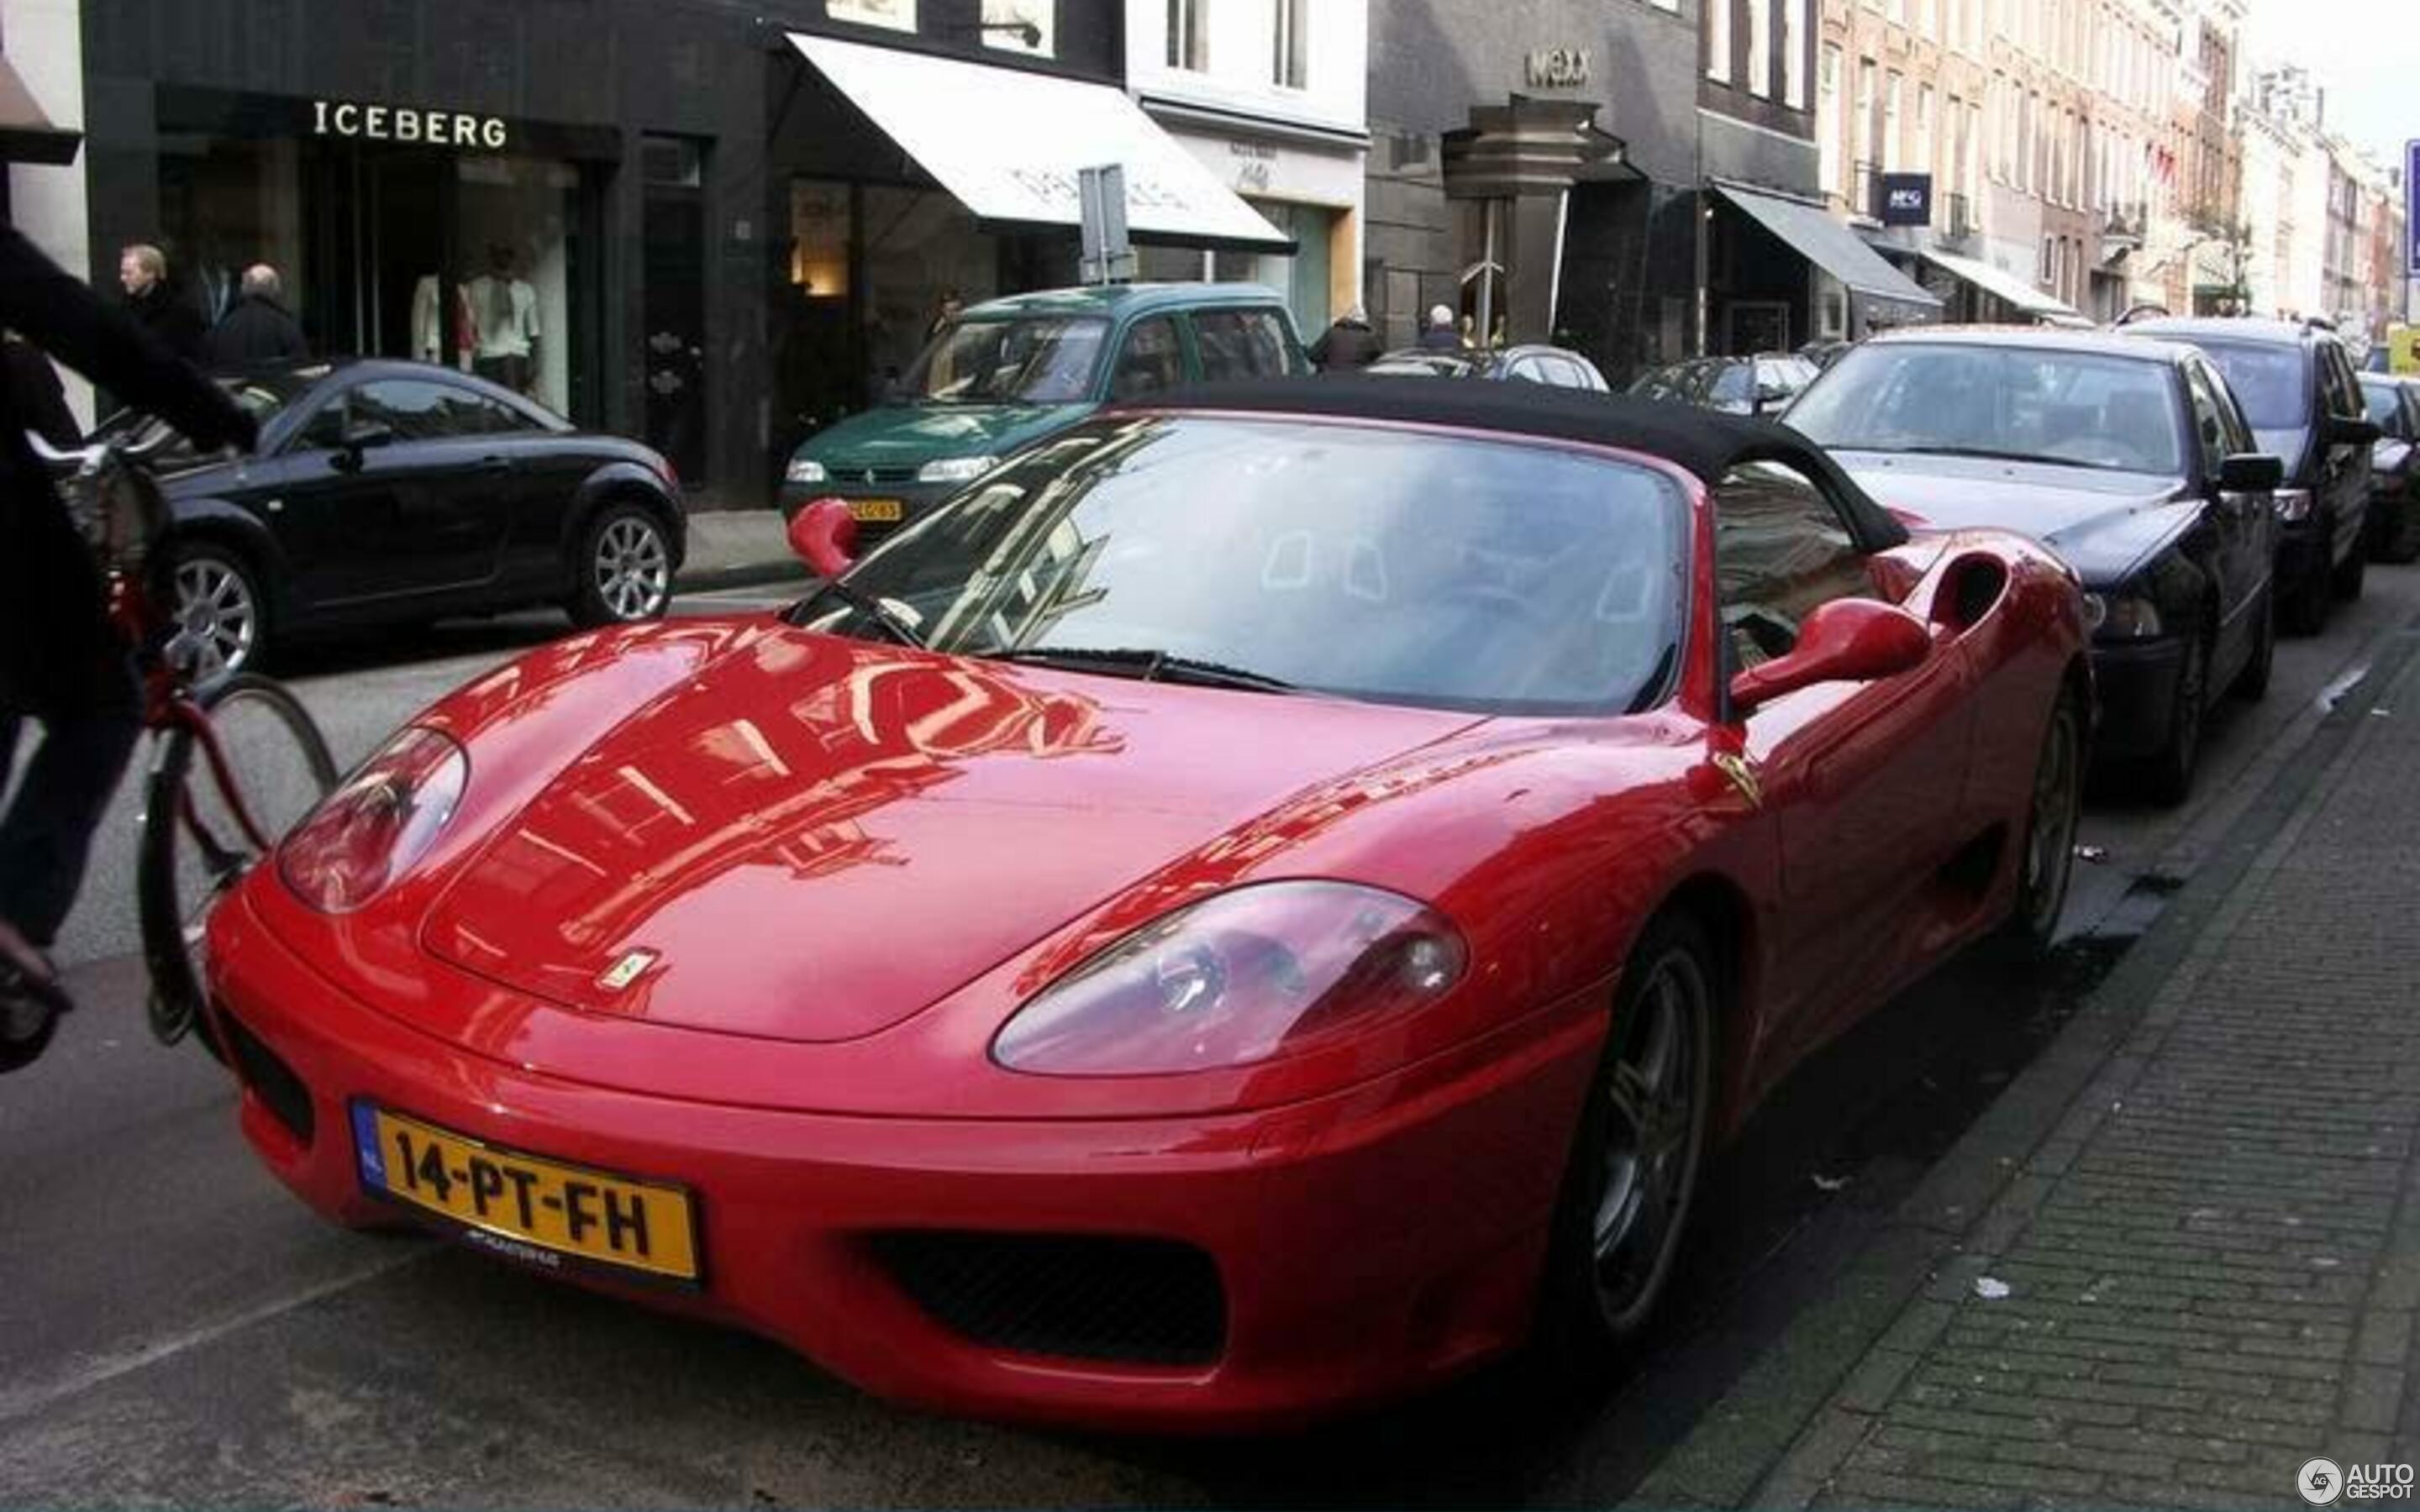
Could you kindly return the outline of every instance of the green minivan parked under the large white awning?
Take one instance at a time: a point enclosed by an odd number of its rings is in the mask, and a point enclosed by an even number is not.
[[[791,452],[782,513],[845,498],[871,542],[1101,404],[1309,370],[1285,300],[1258,283],[1104,283],[990,300],[924,346],[898,404]]]

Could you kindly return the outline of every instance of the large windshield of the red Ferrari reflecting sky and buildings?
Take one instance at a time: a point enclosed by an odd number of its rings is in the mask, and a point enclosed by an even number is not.
[[[1660,472],[1556,445],[1128,416],[1028,448],[845,581],[937,651],[1602,714],[1677,663],[1684,518]],[[883,634],[835,595],[801,612]]]

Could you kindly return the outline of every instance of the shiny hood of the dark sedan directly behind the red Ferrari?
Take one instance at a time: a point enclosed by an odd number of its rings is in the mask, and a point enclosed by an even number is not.
[[[2178,479],[2149,472],[1907,452],[1834,452],[1834,460],[1912,525],[2016,530],[2057,552],[2086,583],[2125,578],[2202,508],[2197,498],[2176,498]]]

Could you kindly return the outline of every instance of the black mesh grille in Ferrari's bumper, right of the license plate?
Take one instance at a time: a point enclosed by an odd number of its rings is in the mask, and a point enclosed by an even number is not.
[[[1227,1340],[1217,1265],[1169,1239],[881,1234],[874,1253],[944,1328],[1019,1355],[1208,1364]]]

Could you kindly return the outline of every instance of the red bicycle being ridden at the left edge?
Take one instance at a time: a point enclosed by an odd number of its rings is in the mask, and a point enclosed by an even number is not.
[[[60,472],[68,513],[102,566],[109,619],[133,653],[143,728],[155,738],[136,917],[152,987],[145,1016],[162,1045],[211,1023],[201,973],[211,907],[336,786],[336,762],[302,702],[259,673],[203,677],[211,648],[162,610],[177,602],[172,561],[160,552],[172,518],[148,462],[172,440],[165,426],[131,445],[70,450],[27,435],[34,455]],[[194,781],[196,752],[208,784]],[[17,1055],[41,1055],[56,1028],[53,1016]],[[215,1028],[201,1045],[227,1060]]]

